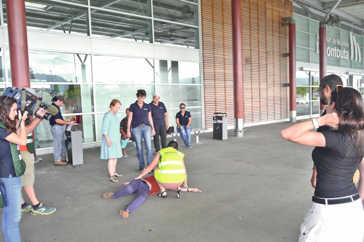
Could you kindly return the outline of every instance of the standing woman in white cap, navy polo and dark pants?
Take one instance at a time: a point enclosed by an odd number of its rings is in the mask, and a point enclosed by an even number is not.
[[[159,94],[159,92],[154,92],[153,102],[149,103],[150,108],[152,109],[152,119],[155,128],[153,142],[156,153],[160,150],[159,136],[161,136],[162,149],[167,147],[166,134],[167,129],[169,128],[167,109],[166,106],[164,106],[164,103],[159,102],[159,98],[161,98],[161,94]]]

